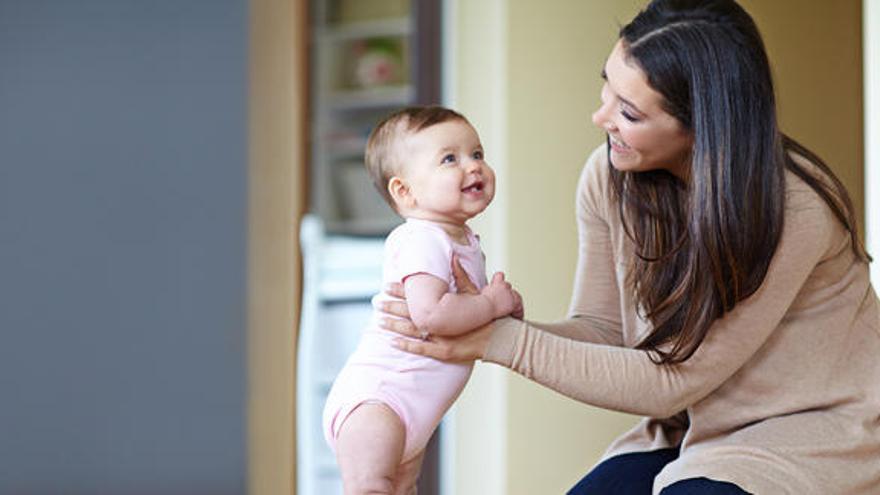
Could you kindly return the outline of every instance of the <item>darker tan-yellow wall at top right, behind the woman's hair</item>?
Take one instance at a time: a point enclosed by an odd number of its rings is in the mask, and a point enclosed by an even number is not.
[[[764,36],[782,129],[847,186],[864,225],[861,0],[741,0]]]

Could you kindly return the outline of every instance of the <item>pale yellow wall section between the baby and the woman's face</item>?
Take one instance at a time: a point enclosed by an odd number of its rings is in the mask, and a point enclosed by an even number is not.
[[[529,318],[559,319],[568,309],[575,185],[603,139],[590,121],[599,73],[616,40],[615,21],[631,18],[641,4],[509,2],[509,275],[521,288]],[[511,495],[564,493],[635,422],[518,375],[511,375],[508,387]]]

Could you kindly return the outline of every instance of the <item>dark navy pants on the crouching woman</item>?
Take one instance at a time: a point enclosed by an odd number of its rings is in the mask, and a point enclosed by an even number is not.
[[[650,495],[654,478],[678,458],[678,449],[622,454],[605,460],[587,473],[568,495]],[[661,495],[743,495],[733,483],[692,478],[667,486]]]

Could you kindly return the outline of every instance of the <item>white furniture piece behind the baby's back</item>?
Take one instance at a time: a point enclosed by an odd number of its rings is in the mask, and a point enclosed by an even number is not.
[[[333,379],[369,321],[382,285],[381,238],[327,236],[307,215],[300,228],[303,302],[297,349],[297,494],[342,493],[321,413]]]

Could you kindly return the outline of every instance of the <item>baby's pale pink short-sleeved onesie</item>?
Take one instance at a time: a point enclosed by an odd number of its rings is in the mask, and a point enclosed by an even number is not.
[[[407,219],[385,240],[383,280],[402,282],[417,273],[434,275],[449,283],[452,254],[478,288],[486,285],[486,268],[479,239],[468,229],[468,245],[453,242],[438,225],[427,220]],[[388,315],[379,303],[390,299],[385,293],[373,297],[373,317],[355,352],[336,377],[324,405],[324,436],[335,451],[339,428],[349,414],[367,401],[379,401],[394,410],[406,427],[403,462],[421,452],[443,414],[461,393],[473,365],[450,364],[401,351],[391,345],[405,338],[382,330],[377,321]]]

